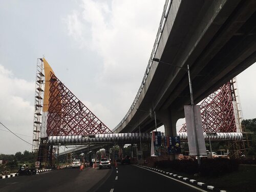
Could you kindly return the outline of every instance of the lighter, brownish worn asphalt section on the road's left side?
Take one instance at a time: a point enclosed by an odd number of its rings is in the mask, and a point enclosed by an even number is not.
[[[79,168],[67,168],[0,179],[0,191],[89,191],[94,190],[102,179],[108,179],[112,170],[87,167],[80,171]]]

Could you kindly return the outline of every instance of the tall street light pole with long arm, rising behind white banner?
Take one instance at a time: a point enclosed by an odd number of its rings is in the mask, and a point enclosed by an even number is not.
[[[187,65],[187,69],[186,69],[186,68],[183,68],[183,67],[176,66],[176,65],[174,65],[172,63],[160,61],[160,59],[158,59],[158,58],[153,58],[152,60],[156,61],[156,62],[159,62],[159,63],[164,63],[164,64],[169,65],[169,66],[174,66],[176,68],[180,68],[182,70],[185,70],[187,72],[187,74],[188,74],[190,102],[191,102],[191,106],[192,106],[191,112],[192,112],[192,117],[193,117],[192,119],[193,119],[193,125],[194,125],[196,151],[197,151],[197,161],[198,161],[198,164],[200,165],[201,164],[201,160],[200,160],[199,147],[198,147],[198,141],[197,141],[196,123],[195,123],[195,116],[194,116],[194,99],[193,99],[193,91],[192,91],[192,83],[191,83],[191,78],[190,78],[189,66]]]

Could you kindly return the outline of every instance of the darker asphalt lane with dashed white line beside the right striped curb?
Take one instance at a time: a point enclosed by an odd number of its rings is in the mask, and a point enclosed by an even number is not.
[[[190,187],[148,169],[133,165],[120,165],[114,168],[109,179],[96,191],[205,191],[198,189],[197,187]]]

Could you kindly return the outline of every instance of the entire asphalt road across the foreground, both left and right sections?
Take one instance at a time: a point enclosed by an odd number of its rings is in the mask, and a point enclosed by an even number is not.
[[[133,165],[111,169],[53,170],[0,180],[0,191],[199,191],[197,188]],[[204,190],[201,190],[204,191]]]

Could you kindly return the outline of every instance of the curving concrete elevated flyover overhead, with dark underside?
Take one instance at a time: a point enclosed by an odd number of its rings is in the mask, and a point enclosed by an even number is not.
[[[187,71],[181,68],[189,66],[194,101],[200,102],[256,61],[255,23],[253,0],[166,1],[139,91],[113,132],[153,131],[155,113],[165,135],[176,135],[183,106],[190,104]]]

